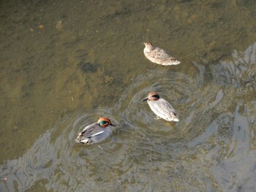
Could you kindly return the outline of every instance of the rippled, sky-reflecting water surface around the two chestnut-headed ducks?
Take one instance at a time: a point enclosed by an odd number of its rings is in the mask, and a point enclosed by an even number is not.
[[[193,74],[148,70],[115,106],[63,118],[20,158],[1,164],[0,188],[255,191],[255,58],[256,43],[230,61],[194,62]],[[141,101],[151,91],[170,101],[180,122],[154,119]],[[78,131],[102,114],[119,127],[103,150],[75,144]]]

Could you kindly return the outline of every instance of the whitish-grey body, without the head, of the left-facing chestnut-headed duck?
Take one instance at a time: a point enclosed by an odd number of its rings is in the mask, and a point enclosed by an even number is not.
[[[148,100],[148,105],[159,118],[167,121],[178,121],[176,111],[165,99],[160,98],[157,101]]]

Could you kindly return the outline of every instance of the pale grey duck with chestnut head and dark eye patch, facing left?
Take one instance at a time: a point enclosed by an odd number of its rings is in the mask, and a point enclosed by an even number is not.
[[[160,98],[159,93],[152,92],[143,99],[143,101],[148,101],[148,105],[151,110],[159,118],[163,118],[167,121],[178,121],[178,116],[173,107],[165,99]]]

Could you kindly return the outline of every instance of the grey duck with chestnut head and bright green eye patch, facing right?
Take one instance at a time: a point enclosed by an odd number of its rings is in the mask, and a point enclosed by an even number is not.
[[[83,128],[83,131],[78,133],[78,138],[75,139],[75,142],[86,145],[102,142],[112,134],[113,128],[110,126],[114,126],[110,119],[99,118],[97,123],[91,123],[86,128]]]

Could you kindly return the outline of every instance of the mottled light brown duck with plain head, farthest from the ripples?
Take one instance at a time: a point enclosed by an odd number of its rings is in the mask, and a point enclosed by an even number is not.
[[[165,50],[162,50],[159,47],[153,47],[150,42],[144,42],[144,45],[144,55],[153,63],[164,66],[178,65],[181,63],[181,61],[178,61],[176,58],[168,55]]]

